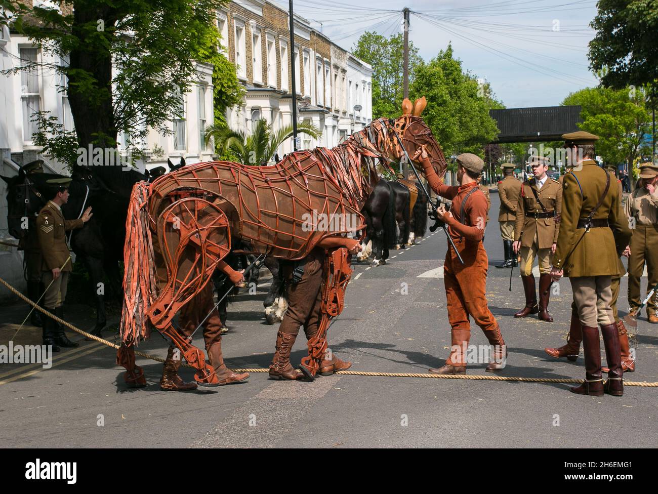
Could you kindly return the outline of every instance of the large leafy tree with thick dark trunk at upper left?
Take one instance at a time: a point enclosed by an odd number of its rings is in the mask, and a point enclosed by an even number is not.
[[[42,53],[68,65],[39,65],[63,74],[78,145],[116,147],[119,132],[129,146],[143,143],[149,130],[169,134],[182,91],[196,82],[198,61],[215,64],[215,100],[240,99],[235,70],[218,58],[215,12],[224,0],[63,0],[58,7],[32,1],[0,0],[5,22]],[[0,9],[2,10],[2,9]],[[10,71],[33,69],[24,63]],[[222,94],[218,94],[222,93]],[[216,109],[221,112],[221,109]],[[220,113],[221,115],[221,113]],[[103,166],[99,173],[116,174]]]

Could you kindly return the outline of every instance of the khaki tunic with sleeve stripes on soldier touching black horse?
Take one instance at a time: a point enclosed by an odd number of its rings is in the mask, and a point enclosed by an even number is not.
[[[70,255],[66,245],[66,232],[73,228],[82,228],[84,221],[64,220],[61,209],[53,201],[48,203],[39,211],[37,218],[37,232],[39,234],[39,246],[41,247],[41,270],[50,271],[60,268],[62,271],[72,270],[71,260],[66,259]],[[66,266],[62,267],[64,262]]]

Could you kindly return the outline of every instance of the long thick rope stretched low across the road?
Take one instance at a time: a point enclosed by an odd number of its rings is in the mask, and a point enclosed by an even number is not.
[[[5,280],[3,280],[2,278],[0,278],[0,284],[5,285],[5,287],[7,287],[9,291],[14,293],[14,295],[18,296],[25,303],[32,305],[34,309],[37,309],[39,310],[39,312],[42,312],[46,316],[53,318],[54,320],[59,322],[59,324],[66,326],[66,328],[70,329],[71,331],[84,335],[89,339],[98,341],[99,343],[103,343],[103,345],[107,345],[108,347],[112,347],[114,349],[119,348],[119,345],[116,345],[111,341],[107,341],[107,339],[103,339],[101,337],[95,336],[86,331],[82,331],[79,328],[76,328],[76,326],[73,326],[72,324],[66,322],[65,320],[55,316],[55,314],[51,314],[51,312],[48,312],[47,310],[43,309],[39,305],[36,305],[33,301],[28,299],[28,297],[20,293],[20,291],[15,289],[9,283],[5,282]],[[156,362],[164,363],[164,358],[158,357],[157,355],[150,355],[148,353],[143,353],[139,351],[135,351],[135,355],[139,355],[139,357],[143,357],[143,358],[149,358],[150,360],[155,360]],[[187,364],[187,362],[183,362],[183,365],[191,368],[191,366]],[[233,372],[253,372],[254,374],[259,372],[269,372],[269,369],[266,368],[231,369],[231,370]],[[513,377],[513,376],[488,376],[488,375],[480,375],[480,374],[421,374],[415,372],[365,372],[360,370],[339,370],[338,372],[336,372],[336,374],[340,374],[343,376],[377,376],[377,377],[385,377],[385,378],[465,379],[465,380],[474,380],[474,381],[508,381],[508,382],[563,383],[563,384],[582,383],[581,379],[522,378],[522,377]],[[634,381],[624,380],[624,386],[658,387],[658,382],[634,382]]]

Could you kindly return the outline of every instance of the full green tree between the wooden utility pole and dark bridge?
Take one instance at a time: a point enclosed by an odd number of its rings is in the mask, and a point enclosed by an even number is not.
[[[489,110],[501,103],[484,80],[462,70],[450,45],[430,62],[418,64],[410,93],[427,98],[422,116],[445,155],[484,156],[484,145],[498,133]]]

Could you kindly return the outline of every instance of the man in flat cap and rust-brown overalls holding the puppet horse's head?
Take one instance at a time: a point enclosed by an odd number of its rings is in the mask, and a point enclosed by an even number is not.
[[[457,180],[461,185],[443,184],[421,147],[413,161],[420,161],[432,190],[452,200],[450,212],[443,212],[443,222],[455,243],[464,264],[459,261],[449,245],[443,264],[443,280],[447,299],[448,319],[451,326],[452,348],[445,365],[430,369],[434,374],[465,374],[467,347],[470,339],[469,316],[480,326],[490,345],[493,345],[493,361],[486,368],[494,372],[505,366],[505,341],[498,322],[489,310],[486,299],[488,270],[487,253],[482,245],[488,205],[484,193],[478,188],[477,178],[484,162],[476,155],[465,153],[457,157]]]

